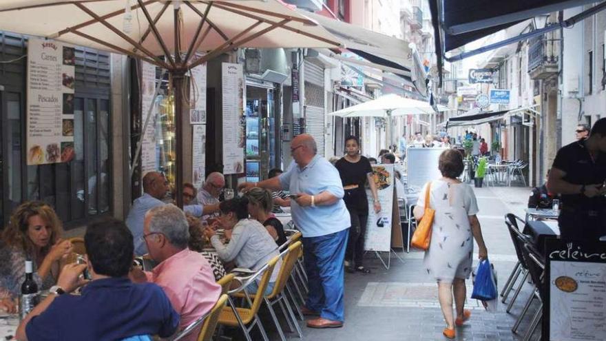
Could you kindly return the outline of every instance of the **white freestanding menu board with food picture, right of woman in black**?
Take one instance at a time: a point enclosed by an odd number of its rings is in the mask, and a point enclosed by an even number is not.
[[[391,225],[393,222],[394,168],[393,165],[373,165],[373,179],[377,185],[377,195],[381,211],[375,214],[373,194],[366,189],[368,200],[368,225],[364,249],[388,252],[391,249]]]

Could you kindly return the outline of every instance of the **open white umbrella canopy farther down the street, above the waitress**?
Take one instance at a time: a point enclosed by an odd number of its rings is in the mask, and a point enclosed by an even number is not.
[[[446,111],[448,107],[439,105],[438,110]],[[401,115],[435,114],[433,107],[424,101],[405,99],[397,94],[381,96],[373,101],[346,107],[330,115],[340,117],[389,117]]]

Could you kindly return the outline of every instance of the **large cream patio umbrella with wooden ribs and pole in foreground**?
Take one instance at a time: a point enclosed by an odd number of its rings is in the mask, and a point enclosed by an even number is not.
[[[187,107],[182,90],[189,69],[236,48],[341,47],[279,0],[3,0],[0,30],[126,54],[167,70],[174,81],[179,207]],[[206,54],[196,58],[198,51]]]

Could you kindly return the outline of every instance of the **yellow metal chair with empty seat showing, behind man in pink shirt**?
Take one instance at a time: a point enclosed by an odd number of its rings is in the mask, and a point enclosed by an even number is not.
[[[271,273],[273,273],[273,268],[275,267],[275,263],[278,262],[280,256],[275,256],[271,258],[271,260],[264,265],[261,269],[256,271],[253,276],[250,276],[244,283],[238,287],[238,289],[233,289],[229,291],[230,295],[240,293],[244,291],[252,282],[255,282],[257,278],[261,278],[258,283],[258,290],[255,294],[254,300],[250,303],[250,308],[241,308],[236,307],[233,304],[231,298],[228,298],[227,302],[229,303],[229,307],[224,307],[221,310],[219,315],[219,323],[228,326],[228,327],[240,327],[242,328],[242,332],[248,341],[252,341],[251,338],[251,330],[255,327],[255,324],[258,325],[259,330],[261,331],[261,335],[263,336],[263,340],[269,341],[267,338],[267,333],[265,333],[265,329],[263,329],[263,325],[261,324],[261,320],[257,316],[259,308],[261,307],[261,303],[263,302],[263,293],[265,289],[267,289],[267,285],[269,284],[269,278],[271,278]],[[247,327],[249,326],[249,327]]]

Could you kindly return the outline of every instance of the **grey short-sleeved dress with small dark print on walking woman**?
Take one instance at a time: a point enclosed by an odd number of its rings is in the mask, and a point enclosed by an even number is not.
[[[424,187],[417,205],[425,207]],[[424,265],[439,282],[469,278],[473,260],[473,236],[469,216],[477,214],[478,205],[472,187],[444,180],[431,183],[430,207],[435,209],[432,235]]]

